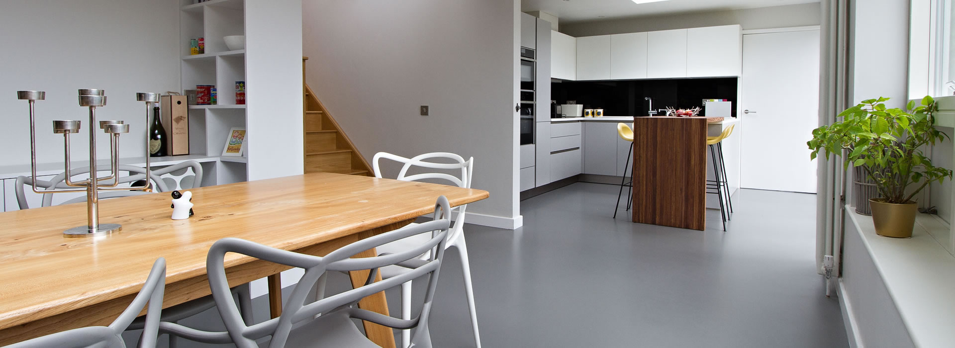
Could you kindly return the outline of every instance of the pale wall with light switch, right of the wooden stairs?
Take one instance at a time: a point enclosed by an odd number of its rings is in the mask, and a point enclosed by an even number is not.
[[[305,0],[308,86],[370,161],[382,151],[474,156],[473,186],[491,197],[469,215],[515,218],[519,5]]]

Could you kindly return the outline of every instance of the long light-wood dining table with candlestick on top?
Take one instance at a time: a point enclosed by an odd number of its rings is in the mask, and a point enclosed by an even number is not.
[[[86,221],[85,203],[0,214],[0,346],[108,325],[159,257],[166,259],[163,308],[210,295],[205,256],[224,237],[323,256],[434,212],[440,195],[452,206],[488,197],[482,190],[329,173],[190,191],[195,215],[185,220],[170,218],[168,193],[100,201],[100,221],[119,223],[122,231],[99,237],[63,237]],[[355,257],[374,255],[372,249]],[[289,268],[238,254],[227,255],[225,267],[230,286]],[[352,283],[360,286],[367,275],[353,273]],[[388,315],[384,293],[359,306]],[[365,330],[378,345],[394,347],[391,328],[365,322]]]

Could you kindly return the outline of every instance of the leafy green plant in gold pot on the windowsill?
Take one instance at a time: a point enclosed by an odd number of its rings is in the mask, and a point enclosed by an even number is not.
[[[813,130],[807,143],[811,159],[823,153],[842,156],[848,168],[862,166],[876,183],[880,198],[869,199],[876,233],[912,236],[918,205],[912,198],[928,183],[952,177],[952,171],[935,167],[922,148],[948,138],[935,129],[937,106],[930,96],[922,105],[910,101],[905,110],[886,109],[889,98],[863,100],[839,113],[842,120]]]

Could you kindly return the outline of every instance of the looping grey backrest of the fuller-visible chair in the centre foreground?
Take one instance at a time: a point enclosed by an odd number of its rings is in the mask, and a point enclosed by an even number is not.
[[[437,285],[438,271],[440,270],[441,259],[444,255],[444,243],[446,243],[448,228],[451,225],[449,207],[448,199],[442,195],[438,197],[435,203],[434,220],[422,224],[408,225],[392,232],[356,241],[329,253],[327,256],[298,254],[239,238],[224,238],[215,242],[209,249],[209,254],[206,258],[206,272],[208,273],[209,287],[212,289],[212,296],[215,298],[216,306],[219,308],[219,313],[223,317],[228,337],[231,338],[232,343],[235,343],[236,346],[240,348],[258,348],[256,339],[271,336],[269,347],[279,348],[285,346],[292,325],[312,320],[316,316],[328,313],[331,310],[341,309],[347,311],[350,317],[371,320],[391,327],[416,327],[417,330],[415,330],[413,339],[417,339],[416,341],[428,346],[428,343],[430,343],[427,330],[428,317],[431,313],[431,303],[434,298],[435,286]],[[350,256],[398,239],[435,231],[439,232],[432,235],[427,242],[407,251],[381,256],[350,258]],[[429,251],[434,252],[432,254],[434,257],[427,260],[417,258]],[[251,326],[245,325],[239,308],[236,306],[235,299],[232,297],[231,292],[229,292],[228,281],[225,277],[223,259],[226,253],[252,256],[269,262],[305,269],[305,276],[302,276],[299,282],[294,286],[291,296],[286,300],[286,304],[283,306],[282,316]],[[406,261],[411,263],[407,263]],[[408,267],[411,271],[401,276],[394,276],[377,282],[373,281],[377,268],[393,264],[401,264],[402,266]],[[319,277],[326,272],[362,270],[372,270],[364,286],[305,304],[308,292],[318,281]],[[414,319],[398,319],[353,307],[353,305],[363,297],[368,297],[425,275],[430,275],[428,291],[425,295],[422,310],[418,317]],[[163,322],[162,324],[164,329],[175,329],[179,327],[180,330],[184,330],[176,333],[180,337],[207,342],[222,342],[221,338],[216,338],[216,333],[203,333],[196,330],[181,329],[184,327],[171,323]],[[167,332],[175,331],[177,330],[169,330]]]

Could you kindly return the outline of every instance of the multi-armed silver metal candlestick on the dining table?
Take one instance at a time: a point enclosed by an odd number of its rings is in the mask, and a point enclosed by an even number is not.
[[[147,190],[152,182],[149,166],[149,126],[153,107],[159,102],[159,93],[136,93],[137,101],[146,103],[146,183],[141,186],[117,187],[119,184],[118,143],[119,134],[129,133],[129,125],[123,121],[99,121],[99,129],[110,135],[110,174],[97,176],[96,171],[96,108],[106,106],[106,93],[103,90],[79,90],[79,106],[90,108],[90,178],[73,181],[70,171],[70,134],[79,133],[80,121],[56,120],[53,121],[53,133],[63,134],[64,169],[67,186],[74,188],[53,188],[52,190],[38,190],[36,188],[36,132],[35,132],[35,103],[46,99],[47,92],[17,91],[16,97],[26,100],[30,104],[30,159],[33,179],[32,189],[37,194],[59,194],[86,191],[86,226],[77,226],[63,232],[65,237],[109,235],[122,230],[122,226],[115,223],[99,223],[99,192],[100,191],[134,191]],[[111,181],[109,181],[111,180]],[[107,181],[107,182],[102,182]]]

